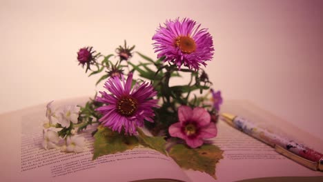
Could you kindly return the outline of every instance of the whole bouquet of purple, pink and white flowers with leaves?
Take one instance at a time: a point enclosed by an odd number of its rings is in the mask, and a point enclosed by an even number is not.
[[[103,74],[96,84],[104,81],[104,89],[85,106],[55,109],[48,103],[43,148],[82,152],[85,139],[78,134],[97,125],[92,131],[93,160],[143,145],[172,157],[182,168],[215,177],[223,151],[207,139],[217,135],[222,97],[211,89],[201,68],[213,59],[214,49],[211,34],[200,26],[188,18],[159,26],[153,36],[157,60],[134,52],[135,45],[126,41],[116,54],[81,48],[79,65],[89,77]],[[143,61],[133,63],[134,53]],[[190,77],[188,83],[170,85],[171,79],[183,75]]]

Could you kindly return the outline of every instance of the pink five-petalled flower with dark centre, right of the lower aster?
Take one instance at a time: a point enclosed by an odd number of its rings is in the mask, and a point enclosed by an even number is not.
[[[170,125],[168,132],[170,136],[184,139],[191,148],[197,148],[204,142],[217,136],[217,127],[211,123],[211,116],[204,108],[193,110],[182,105],[178,108],[178,123]]]

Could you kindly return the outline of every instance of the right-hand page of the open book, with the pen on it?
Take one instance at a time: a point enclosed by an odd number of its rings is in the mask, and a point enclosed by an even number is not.
[[[242,116],[262,127],[285,134],[288,138],[306,143],[318,152],[323,152],[323,142],[320,139],[260,110],[247,101],[227,101],[222,107],[222,112]],[[218,135],[212,141],[224,150],[224,159],[220,160],[216,167],[217,181],[239,181],[272,176],[321,176],[323,180],[323,172],[315,172],[287,159],[270,146],[232,128],[224,121],[219,121],[217,128]],[[215,181],[201,172],[188,170],[186,173],[193,181]]]

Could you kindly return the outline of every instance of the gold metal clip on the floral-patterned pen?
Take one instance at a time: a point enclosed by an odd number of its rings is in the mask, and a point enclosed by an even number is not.
[[[296,161],[297,163],[306,166],[307,168],[310,168],[311,170],[323,171],[323,158],[320,159],[319,162],[309,161],[307,159],[304,159],[302,156],[298,156],[297,154],[293,154],[285,148],[282,148],[280,145],[275,145],[275,150],[276,152],[288,157],[289,159],[292,159],[293,161]]]

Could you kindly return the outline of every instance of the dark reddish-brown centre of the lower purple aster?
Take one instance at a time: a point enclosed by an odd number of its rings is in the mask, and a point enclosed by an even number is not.
[[[137,110],[138,102],[132,97],[121,97],[117,102],[117,111],[126,117],[132,116]]]

